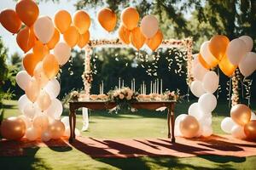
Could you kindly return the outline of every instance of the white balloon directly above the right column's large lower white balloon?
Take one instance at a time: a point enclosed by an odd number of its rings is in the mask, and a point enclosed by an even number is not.
[[[219,77],[214,71],[208,71],[202,81],[202,86],[209,94],[213,94],[218,89]]]

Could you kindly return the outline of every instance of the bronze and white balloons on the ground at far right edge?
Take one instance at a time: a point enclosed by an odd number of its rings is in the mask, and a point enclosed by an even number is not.
[[[256,140],[256,115],[247,105],[234,105],[230,117],[221,122],[221,129],[237,139]]]

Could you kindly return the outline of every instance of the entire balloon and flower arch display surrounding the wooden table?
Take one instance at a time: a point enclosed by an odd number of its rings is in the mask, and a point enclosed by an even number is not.
[[[38,4],[33,0],[20,0],[15,10],[7,8],[0,14],[2,26],[14,35],[17,34],[16,42],[25,53],[22,60],[25,71],[20,71],[16,76],[17,84],[25,91],[18,101],[22,115],[3,121],[3,138],[21,139],[26,133],[29,140],[41,138],[48,141],[59,139],[65,133],[69,134],[69,127],[64,125],[68,125],[68,119],[60,120],[63,108],[56,97],[61,87],[55,77],[60,66],[67,63],[71,49],[76,45],[85,50],[84,91],[86,95],[90,95],[90,54],[93,48],[130,48],[128,44],[131,44],[139,50],[146,44],[152,51],[159,47],[173,46],[187,51],[187,83],[192,94],[199,99],[189,106],[189,116],[177,116],[177,135],[193,138],[212,134],[212,111],[217,105],[213,93],[218,89],[219,82],[219,77],[213,70],[219,66],[232,79],[230,99],[232,105],[235,105],[230,111],[231,118],[227,117],[222,122],[222,129],[237,138],[247,136],[256,139],[256,121],[250,121],[251,110],[246,105],[236,105],[239,99],[238,73],[248,77],[256,70],[256,54],[251,52],[251,37],[242,36],[230,41],[228,37],[216,35],[210,41],[203,42],[200,53],[193,56],[191,38],[163,40],[154,15],[144,16],[138,26],[140,16],[136,8],[128,7],[122,11],[119,39],[115,40],[90,40],[90,16],[84,10],[78,10],[73,17],[66,10],[59,10],[54,19],[38,15]],[[110,32],[116,26],[117,14],[110,8],[102,8],[97,14],[97,20]],[[64,41],[59,42],[60,37]],[[236,69],[237,65],[239,70]],[[191,129],[193,127],[196,128]]]

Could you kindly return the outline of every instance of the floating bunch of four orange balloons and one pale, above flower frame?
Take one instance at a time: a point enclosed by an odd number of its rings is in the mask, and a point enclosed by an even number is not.
[[[128,7],[122,11],[119,38],[125,44],[132,44],[139,50],[144,43],[154,51],[163,40],[163,34],[159,29],[158,20],[154,15],[148,14],[143,17],[141,26],[137,26],[140,16],[136,8]]]

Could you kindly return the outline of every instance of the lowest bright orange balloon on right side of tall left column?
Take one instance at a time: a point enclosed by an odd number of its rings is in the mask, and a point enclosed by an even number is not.
[[[48,54],[44,57],[43,69],[46,77],[49,79],[54,78],[58,74],[60,70],[59,63],[53,54]]]

